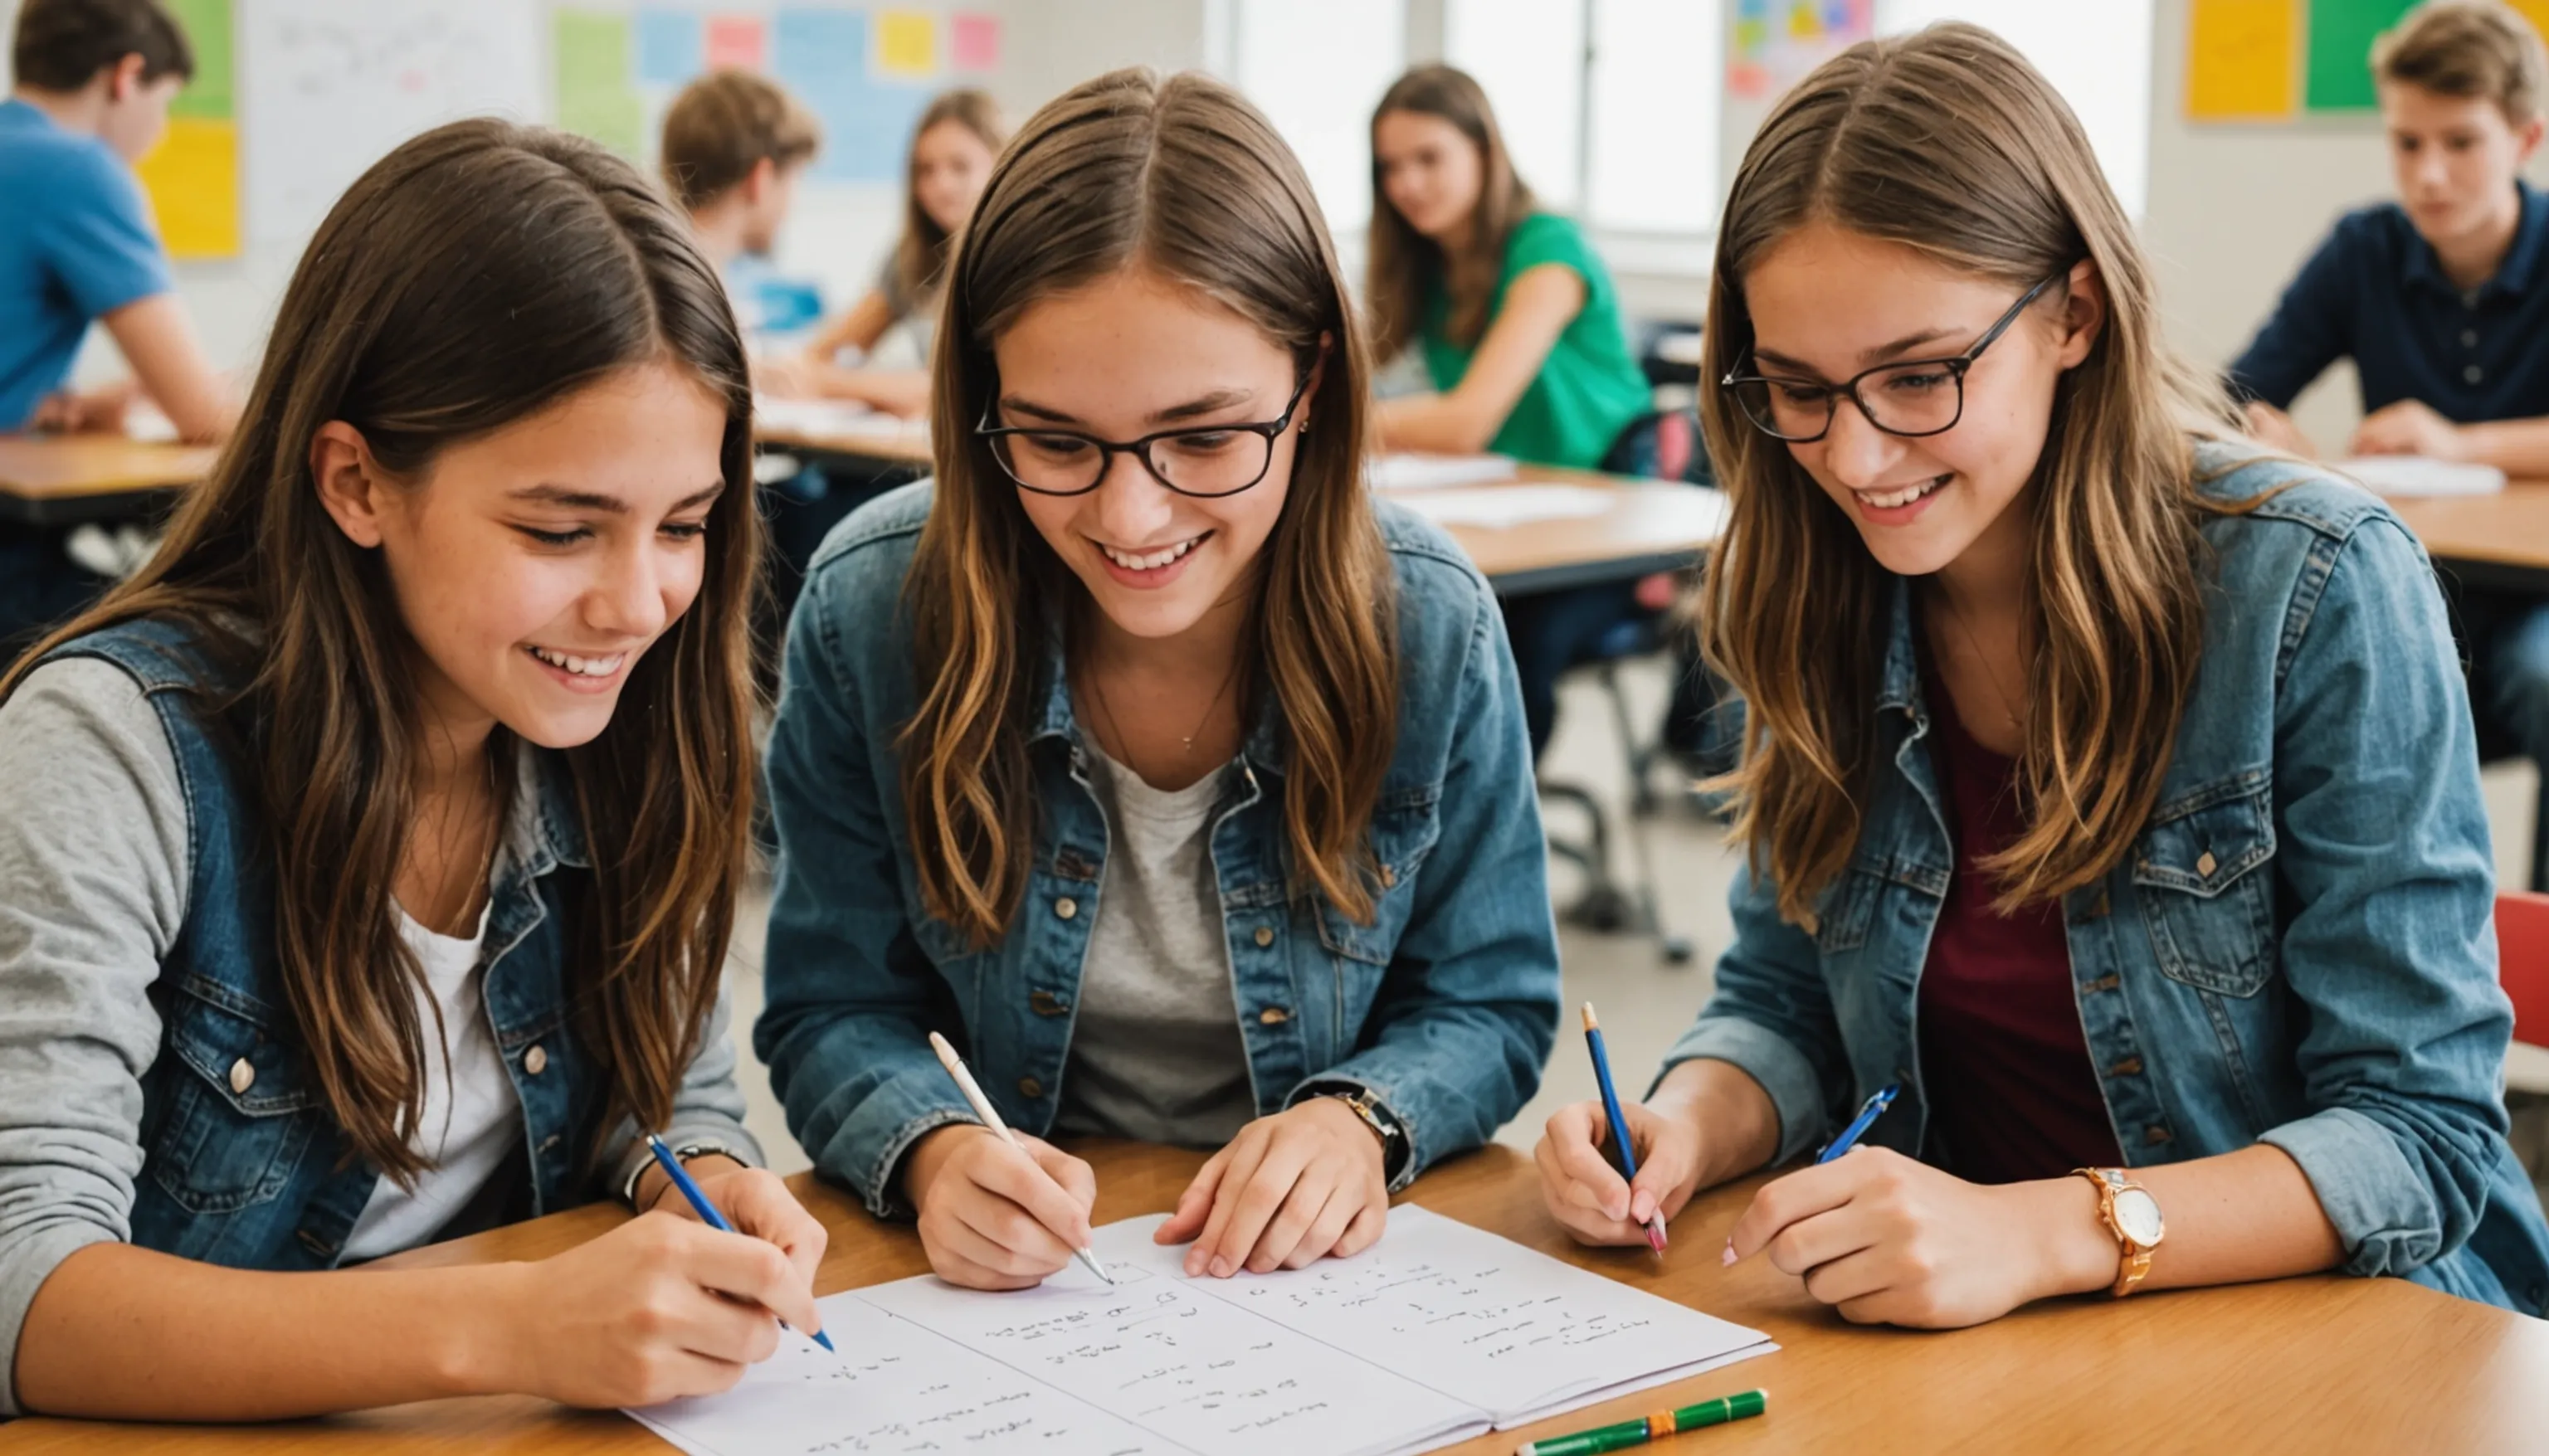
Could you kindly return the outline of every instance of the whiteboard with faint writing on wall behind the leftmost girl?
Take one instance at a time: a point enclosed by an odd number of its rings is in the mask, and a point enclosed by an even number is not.
[[[250,235],[298,245],[421,130],[484,112],[540,120],[545,15],[523,0],[240,5]]]

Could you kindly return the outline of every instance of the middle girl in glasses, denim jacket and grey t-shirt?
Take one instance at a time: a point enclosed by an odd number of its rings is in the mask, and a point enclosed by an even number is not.
[[[1231,1275],[1371,1244],[1540,1081],[1514,668],[1461,551],[1364,492],[1366,377],[1300,163],[1206,76],[1055,99],[958,240],[938,479],[831,535],[788,632],[755,1030],[951,1283],[1088,1244],[1045,1135],[1216,1147],[1160,1242]]]

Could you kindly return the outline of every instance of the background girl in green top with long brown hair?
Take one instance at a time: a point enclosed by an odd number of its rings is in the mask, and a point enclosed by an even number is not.
[[[1466,71],[1417,66],[1382,94],[1369,247],[1374,354],[1422,349],[1440,390],[1382,400],[1387,449],[1654,474],[1654,405],[1611,270],[1583,229],[1532,199]],[[1537,755],[1557,724],[1557,673],[1644,609],[1634,581],[1614,581],[1504,612]]]

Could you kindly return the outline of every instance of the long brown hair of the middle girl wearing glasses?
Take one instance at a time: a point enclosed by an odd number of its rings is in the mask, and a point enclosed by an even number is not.
[[[1025,125],[956,242],[933,365],[938,497],[905,584],[920,709],[900,739],[902,803],[930,915],[974,946],[1027,887],[1027,734],[1043,648],[1078,581],[974,436],[999,390],[992,344],[1094,278],[1145,268],[1257,324],[1325,372],[1292,492],[1259,561],[1241,704],[1285,729],[1282,821],[1295,890],[1371,915],[1366,829],[1397,747],[1397,612],[1364,495],[1369,357],[1300,161],[1234,89],[1114,71]]]

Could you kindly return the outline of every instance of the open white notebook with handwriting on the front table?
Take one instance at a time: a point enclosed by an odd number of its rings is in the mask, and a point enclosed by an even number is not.
[[[1188,1280],[1160,1219],[1025,1293],[935,1278],[823,1300],[724,1395],[630,1410],[696,1456],[1397,1456],[1777,1349],[1417,1206],[1354,1260]]]

